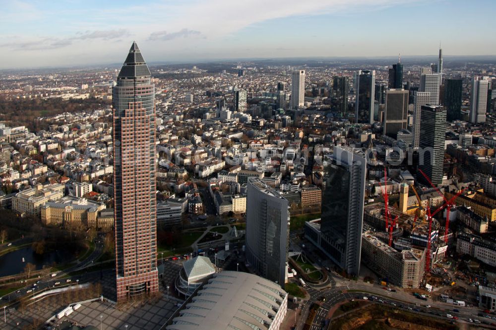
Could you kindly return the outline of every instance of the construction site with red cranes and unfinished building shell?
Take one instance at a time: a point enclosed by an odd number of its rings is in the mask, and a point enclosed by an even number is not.
[[[446,257],[452,237],[449,212],[461,192],[447,200],[434,185],[429,193],[419,194],[414,185],[402,183],[399,203],[391,207],[386,169],[382,182],[383,202],[364,207],[363,261],[381,281],[404,288],[450,284],[450,276],[438,264]],[[447,220],[441,226],[434,216],[443,211]]]

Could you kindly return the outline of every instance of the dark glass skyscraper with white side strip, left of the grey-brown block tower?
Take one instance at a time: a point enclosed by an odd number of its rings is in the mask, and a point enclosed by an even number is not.
[[[373,123],[373,103],[375,93],[375,70],[359,70],[355,79],[355,121]]]

